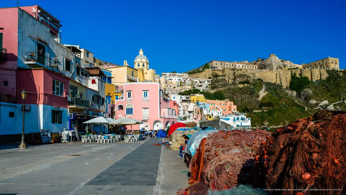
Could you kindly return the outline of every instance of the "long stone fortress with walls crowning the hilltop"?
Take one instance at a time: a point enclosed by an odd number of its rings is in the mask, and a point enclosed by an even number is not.
[[[206,65],[209,68],[206,68]],[[253,78],[261,78],[265,82],[281,84],[289,87],[291,71],[297,75],[308,77],[311,81],[326,79],[326,70],[338,70],[339,59],[327,57],[306,64],[294,64],[288,60],[280,60],[275,54],[270,54],[267,59],[258,58],[256,61],[226,62],[212,60],[207,64],[188,72],[190,78],[207,79],[214,74],[222,75],[227,82],[232,82],[234,76],[247,74]]]

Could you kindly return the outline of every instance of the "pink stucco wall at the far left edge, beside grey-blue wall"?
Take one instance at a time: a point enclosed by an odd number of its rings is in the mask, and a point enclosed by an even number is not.
[[[0,33],[2,33],[2,47],[7,49],[7,61],[0,62],[0,85],[8,81],[8,86],[0,88],[0,94],[16,96],[17,56],[18,56],[18,8],[0,9]],[[6,19],[4,19],[6,18]]]

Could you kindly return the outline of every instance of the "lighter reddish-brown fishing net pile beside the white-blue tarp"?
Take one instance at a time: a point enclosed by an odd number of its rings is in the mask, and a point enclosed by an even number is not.
[[[237,186],[238,182],[251,181],[248,174],[254,164],[254,154],[270,132],[220,130],[201,141],[200,148],[192,157],[191,176],[207,184],[212,190]],[[205,143],[205,145],[203,145]],[[200,177],[199,177],[200,175]]]

